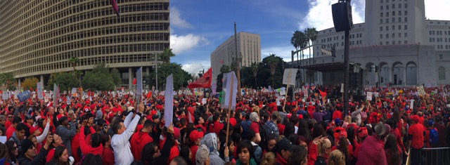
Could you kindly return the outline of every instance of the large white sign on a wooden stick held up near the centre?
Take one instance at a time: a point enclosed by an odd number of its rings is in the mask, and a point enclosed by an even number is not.
[[[224,84],[222,86],[222,94],[224,94],[224,98],[222,98],[221,107],[225,109],[233,109],[236,107],[236,94],[238,93],[238,79],[236,78],[236,74],[234,72],[229,72],[224,74]],[[230,99],[231,105],[230,105]]]

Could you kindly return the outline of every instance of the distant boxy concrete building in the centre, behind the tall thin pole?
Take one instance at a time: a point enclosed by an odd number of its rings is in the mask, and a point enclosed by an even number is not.
[[[253,62],[261,62],[261,36],[248,32],[238,32],[238,55],[242,55],[241,66],[250,67]],[[217,46],[211,53],[212,82],[215,83],[222,65],[229,65],[236,58],[236,42],[234,35]]]

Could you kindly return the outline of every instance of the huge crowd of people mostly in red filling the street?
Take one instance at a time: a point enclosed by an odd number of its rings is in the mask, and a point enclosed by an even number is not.
[[[0,164],[428,164],[424,147],[450,145],[449,86],[366,88],[376,97],[350,98],[348,110],[338,89],[246,93],[231,111],[218,97],[175,95],[172,124],[164,95],[10,98]]]

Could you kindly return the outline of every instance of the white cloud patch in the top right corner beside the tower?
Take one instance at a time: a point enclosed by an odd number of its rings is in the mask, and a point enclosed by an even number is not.
[[[450,20],[449,0],[425,1],[425,17],[430,20]]]

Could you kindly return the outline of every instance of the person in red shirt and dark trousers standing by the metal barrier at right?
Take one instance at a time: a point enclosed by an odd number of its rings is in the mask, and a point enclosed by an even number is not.
[[[420,164],[423,159],[420,157],[420,150],[423,147],[425,127],[420,124],[420,117],[413,115],[411,117],[412,126],[408,130],[407,148],[410,148],[411,164]]]

